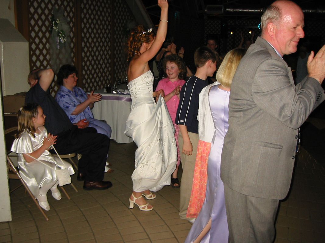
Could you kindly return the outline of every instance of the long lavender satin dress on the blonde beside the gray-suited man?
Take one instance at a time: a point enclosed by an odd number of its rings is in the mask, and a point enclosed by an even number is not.
[[[195,220],[185,243],[193,242],[212,218],[211,229],[203,237],[201,243],[227,243],[228,225],[225,206],[223,182],[220,179],[220,162],[223,140],[228,131],[228,104],[230,91],[215,85],[209,93],[209,104],[214,122],[214,136],[208,159],[208,182],[205,201],[199,216]]]

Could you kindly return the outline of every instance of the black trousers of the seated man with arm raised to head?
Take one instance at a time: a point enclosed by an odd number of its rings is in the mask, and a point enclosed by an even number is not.
[[[110,146],[110,139],[93,127],[79,129],[76,125],[72,129],[57,137],[55,149],[59,154],[78,153],[82,157],[78,163],[78,173],[85,173],[87,181],[101,181],[104,179],[106,157]],[[51,153],[55,151],[51,150]]]

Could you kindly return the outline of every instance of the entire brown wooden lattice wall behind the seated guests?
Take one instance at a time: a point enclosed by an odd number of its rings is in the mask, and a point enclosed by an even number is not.
[[[125,78],[123,30],[134,18],[125,1],[28,0],[27,5],[24,1],[17,4],[28,11],[28,25],[22,25],[28,28],[31,70],[51,67],[50,19],[55,8],[62,8],[71,27],[71,56],[79,71],[78,86],[88,92]],[[54,83],[52,95],[58,88]]]

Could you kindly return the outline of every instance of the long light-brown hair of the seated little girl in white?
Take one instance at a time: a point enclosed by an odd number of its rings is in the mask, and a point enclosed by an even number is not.
[[[23,131],[30,133],[35,137],[35,126],[33,118],[38,116],[38,108],[41,107],[36,103],[29,103],[23,105],[18,111],[18,133],[15,134],[15,138],[19,138]]]

